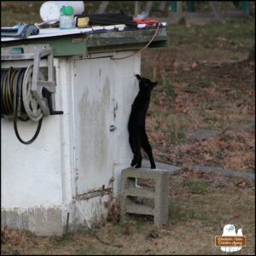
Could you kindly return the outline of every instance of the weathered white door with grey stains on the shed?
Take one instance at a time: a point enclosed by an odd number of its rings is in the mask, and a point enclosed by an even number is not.
[[[73,107],[77,195],[111,187],[115,105],[111,62],[109,58],[75,61]]]

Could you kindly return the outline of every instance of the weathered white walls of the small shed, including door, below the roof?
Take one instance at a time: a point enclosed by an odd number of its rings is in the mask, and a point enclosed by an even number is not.
[[[119,195],[120,172],[131,162],[127,123],[138,90],[140,55],[122,61],[109,56],[131,53],[55,59],[55,109],[64,114],[45,117],[31,145],[15,137],[12,119],[2,119],[2,228],[60,235],[67,212],[70,229],[84,224],[84,218],[95,222],[107,217],[103,201],[108,195],[73,198],[107,188]],[[18,125],[24,139],[36,130],[32,121]],[[110,125],[116,129],[110,131]]]

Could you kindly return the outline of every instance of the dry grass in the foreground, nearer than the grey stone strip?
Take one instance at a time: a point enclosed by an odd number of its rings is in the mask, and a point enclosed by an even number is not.
[[[246,198],[246,200],[245,200]],[[150,217],[124,223],[107,222],[96,227],[102,244],[89,231],[64,237],[40,237],[30,232],[5,229],[2,254],[223,254],[214,246],[224,224],[235,224],[247,237],[247,247],[237,254],[253,254],[254,187],[249,180],[212,173],[184,172],[170,178],[169,220],[155,228]]]

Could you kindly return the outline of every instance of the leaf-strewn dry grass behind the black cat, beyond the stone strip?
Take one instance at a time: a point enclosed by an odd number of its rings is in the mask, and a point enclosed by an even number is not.
[[[254,172],[254,62],[245,61],[253,27],[171,26],[170,46],[143,55],[143,75],[160,82],[147,119],[157,160]],[[199,128],[220,134],[197,142],[191,133]]]

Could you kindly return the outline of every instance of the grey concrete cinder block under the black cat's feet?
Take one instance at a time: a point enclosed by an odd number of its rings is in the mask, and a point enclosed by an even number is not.
[[[128,218],[127,213],[154,216],[154,224],[161,226],[168,219],[170,171],[148,168],[127,168],[121,172],[121,220]],[[137,188],[136,178],[153,179],[154,188]],[[154,206],[137,204],[135,199],[143,197],[154,200]]]

